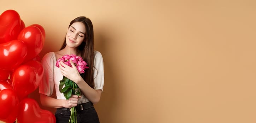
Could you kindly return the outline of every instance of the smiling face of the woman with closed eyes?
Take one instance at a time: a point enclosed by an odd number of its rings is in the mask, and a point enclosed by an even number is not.
[[[66,45],[71,48],[78,47],[85,39],[85,25],[82,22],[74,22],[67,31]]]

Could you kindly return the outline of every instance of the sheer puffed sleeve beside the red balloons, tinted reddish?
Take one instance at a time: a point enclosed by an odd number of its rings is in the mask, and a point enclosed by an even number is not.
[[[44,69],[43,80],[39,84],[39,93],[42,93],[47,96],[51,96],[54,88],[53,80],[53,67],[54,67],[54,52],[45,54],[41,60],[41,64]]]

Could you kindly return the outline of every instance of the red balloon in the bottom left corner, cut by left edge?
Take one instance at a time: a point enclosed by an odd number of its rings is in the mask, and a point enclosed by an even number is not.
[[[18,97],[11,89],[0,91],[0,121],[13,123],[18,113]]]

